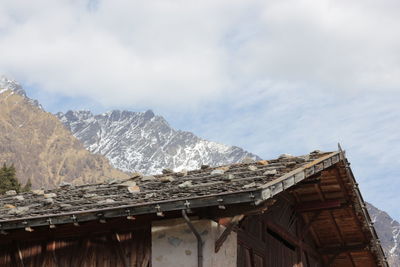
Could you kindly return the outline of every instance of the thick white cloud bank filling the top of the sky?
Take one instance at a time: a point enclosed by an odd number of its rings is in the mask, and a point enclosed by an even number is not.
[[[399,10],[391,0],[3,1],[0,70],[104,106],[198,106],[265,80],[396,90]]]

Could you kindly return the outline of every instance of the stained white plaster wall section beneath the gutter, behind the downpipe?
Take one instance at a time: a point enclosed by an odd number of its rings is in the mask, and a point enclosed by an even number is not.
[[[225,227],[211,220],[191,220],[204,242],[203,266],[235,267],[236,233],[231,232],[215,253],[215,241]],[[151,232],[153,267],[197,267],[197,240],[183,219],[153,222]]]

